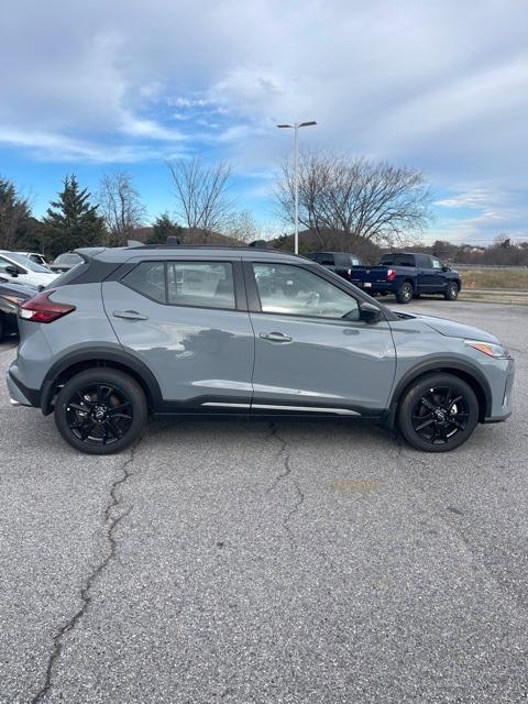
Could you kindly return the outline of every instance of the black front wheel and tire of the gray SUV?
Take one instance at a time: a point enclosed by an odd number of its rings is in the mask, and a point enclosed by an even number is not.
[[[404,438],[417,450],[449,452],[475,429],[479,402],[471,386],[454,374],[426,374],[405,392],[397,422]]]

